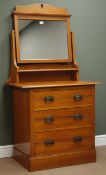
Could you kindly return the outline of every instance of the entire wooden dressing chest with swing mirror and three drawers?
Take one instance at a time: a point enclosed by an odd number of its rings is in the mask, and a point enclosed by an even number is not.
[[[67,9],[13,12],[14,158],[29,171],[96,161],[95,84],[79,80]]]

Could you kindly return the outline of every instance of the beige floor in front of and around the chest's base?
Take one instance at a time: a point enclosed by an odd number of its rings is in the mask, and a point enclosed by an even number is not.
[[[97,147],[96,163],[30,173],[12,158],[0,159],[0,175],[106,175],[106,146]]]

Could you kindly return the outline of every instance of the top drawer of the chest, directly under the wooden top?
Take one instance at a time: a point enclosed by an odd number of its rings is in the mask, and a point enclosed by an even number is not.
[[[34,110],[53,107],[76,107],[94,104],[92,86],[31,90],[30,100]]]

